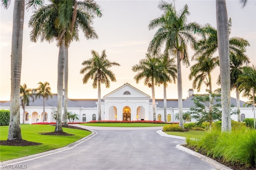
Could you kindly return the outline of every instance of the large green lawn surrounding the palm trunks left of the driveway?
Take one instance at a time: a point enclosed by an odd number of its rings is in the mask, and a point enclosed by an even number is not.
[[[91,134],[90,131],[78,129],[63,128],[66,133],[74,136],[53,136],[40,135],[39,133],[52,132],[55,126],[52,125],[20,125],[22,139],[26,141],[42,143],[42,145],[18,147],[18,146],[2,146],[0,145],[0,161],[20,158],[52,149],[65,147],[66,145],[78,141],[83,137]],[[0,127],[0,140],[4,141],[8,137],[8,126]]]

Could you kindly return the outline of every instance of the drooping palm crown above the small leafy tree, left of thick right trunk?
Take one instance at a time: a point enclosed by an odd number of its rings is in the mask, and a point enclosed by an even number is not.
[[[204,82],[209,87],[209,93],[212,92],[211,72],[218,66],[218,57],[198,57],[197,63],[190,67],[189,80],[193,80],[193,88],[198,92]]]

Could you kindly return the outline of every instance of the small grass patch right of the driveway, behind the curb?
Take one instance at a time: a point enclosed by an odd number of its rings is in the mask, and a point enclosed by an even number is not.
[[[188,131],[188,132],[165,132],[168,135],[176,135],[176,136],[181,136],[181,137],[189,137],[189,138],[196,138],[196,139],[201,139],[202,137],[205,136],[207,131]]]

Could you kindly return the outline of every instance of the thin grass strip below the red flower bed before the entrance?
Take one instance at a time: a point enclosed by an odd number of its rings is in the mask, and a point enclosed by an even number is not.
[[[100,127],[156,127],[167,124],[158,123],[82,123],[85,126],[100,126]]]

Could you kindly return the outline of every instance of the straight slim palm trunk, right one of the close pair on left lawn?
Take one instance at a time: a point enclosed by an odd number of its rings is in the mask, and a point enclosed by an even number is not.
[[[64,59],[64,116],[63,125],[68,125],[68,45],[65,45]]]

